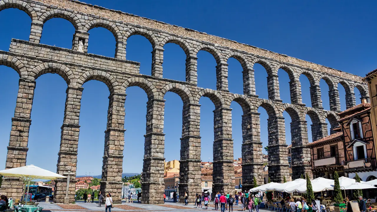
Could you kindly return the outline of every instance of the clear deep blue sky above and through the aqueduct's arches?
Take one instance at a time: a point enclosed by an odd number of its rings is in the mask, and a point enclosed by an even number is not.
[[[377,68],[377,16],[376,2],[351,1],[99,1],[87,3],[121,10],[162,22],[195,29],[259,48],[287,54],[303,60],[340,69],[364,76]],[[31,20],[18,9],[0,12],[2,30],[0,49],[8,51],[11,38],[28,40]],[[72,24],[61,18],[52,18],[45,23],[41,43],[63,48],[72,47]],[[103,28],[89,31],[88,52],[114,57],[115,38]],[[175,44],[164,46],[164,77],[175,80],[185,79],[185,54]],[[127,40],[127,59],[141,63],[141,73],[150,75],[152,46],[140,35]],[[231,58],[229,61],[229,89],[242,94],[242,68]],[[198,86],[216,88],[216,62],[211,54],[198,53]],[[267,73],[260,65],[255,65],[256,92],[267,98]],[[280,95],[283,102],[290,103],[289,78],[279,70]],[[0,66],[0,168],[5,167],[6,146],[9,142],[11,117],[14,115],[18,91],[18,74],[13,69]],[[300,77],[303,103],[310,106],[309,81]],[[329,109],[328,86],[322,80],[323,107]],[[104,147],[104,131],[109,90],[99,81],[84,84],[80,114],[80,141],[78,146],[77,174],[101,174]],[[63,122],[64,102],[67,84],[57,74],[44,74],[37,79],[32,107],[32,125],[29,135],[27,164],[34,164],[51,171],[56,170],[60,127]],[[342,110],[345,109],[345,91],[339,85]],[[125,150],[123,172],[141,172],[144,154],[146,127],[145,92],[137,87],[127,88],[125,118]],[[355,90],[356,101],[360,103],[360,93]],[[182,125],[182,100],[177,94],[168,92],[165,96],[165,157],[166,160],[179,160]],[[201,98],[201,137],[202,160],[212,160],[213,144],[213,103]],[[241,157],[241,115],[237,103],[231,104],[234,158]],[[261,139],[267,146],[267,113],[261,113]],[[284,112],[287,144],[290,144],[290,122]],[[307,116],[310,126],[311,121]],[[309,127],[309,140],[311,141]]]

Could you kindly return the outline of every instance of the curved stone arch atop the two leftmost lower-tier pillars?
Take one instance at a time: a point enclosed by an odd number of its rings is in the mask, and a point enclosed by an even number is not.
[[[67,84],[72,83],[72,81],[75,79],[73,72],[67,66],[59,63],[42,63],[32,69],[29,77],[36,80],[42,74],[46,73],[59,74],[61,77],[63,77]]]

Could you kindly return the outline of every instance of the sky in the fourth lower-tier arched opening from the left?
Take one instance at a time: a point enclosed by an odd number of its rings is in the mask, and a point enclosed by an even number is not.
[[[137,86],[128,87],[126,94],[123,173],[134,175],[143,171],[148,97],[146,92]]]

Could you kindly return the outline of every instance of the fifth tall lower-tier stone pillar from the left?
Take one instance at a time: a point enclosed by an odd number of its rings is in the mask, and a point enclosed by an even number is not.
[[[199,132],[200,104],[187,103],[182,112],[181,161],[179,161],[179,201],[184,202],[185,192],[189,202],[202,192],[201,143]]]

